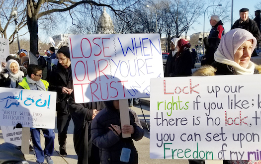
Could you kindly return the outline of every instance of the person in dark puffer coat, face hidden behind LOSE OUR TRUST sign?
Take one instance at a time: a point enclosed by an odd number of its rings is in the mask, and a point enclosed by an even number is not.
[[[144,131],[130,114],[130,125],[120,125],[119,100],[105,101],[102,109],[91,123],[92,143],[100,150],[100,164],[138,164],[138,154],[132,139],[138,141]],[[131,138],[122,138],[130,133]]]

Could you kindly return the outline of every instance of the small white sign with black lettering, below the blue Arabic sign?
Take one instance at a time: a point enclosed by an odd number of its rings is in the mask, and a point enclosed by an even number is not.
[[[4,142],[12,143],[16,146],[22,144],[22,128],[14,128],[13,126],[1,126]]]

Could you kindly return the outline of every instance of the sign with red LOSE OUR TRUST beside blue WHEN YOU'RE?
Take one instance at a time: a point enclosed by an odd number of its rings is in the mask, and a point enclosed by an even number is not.
[[[159,34],[69,35],[77,103],[150,96],[162,78]]]

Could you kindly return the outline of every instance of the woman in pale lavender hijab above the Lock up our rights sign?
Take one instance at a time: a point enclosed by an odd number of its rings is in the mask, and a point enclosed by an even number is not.
[[[259,74],[261,67],[250,61],[256,45],[257,39],[249,31],[230,30],[222,37],[212,65],[199,68],[193,76]]]

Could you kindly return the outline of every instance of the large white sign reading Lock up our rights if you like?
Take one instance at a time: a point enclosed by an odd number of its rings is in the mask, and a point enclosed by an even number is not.
[[[261,75],[151,79],[152,159],[260,160]]]

